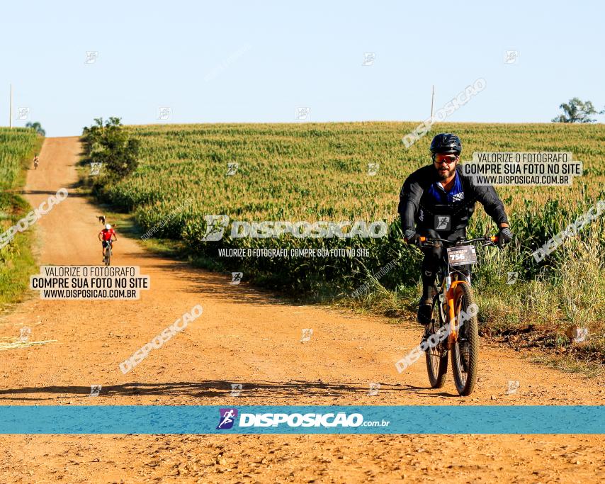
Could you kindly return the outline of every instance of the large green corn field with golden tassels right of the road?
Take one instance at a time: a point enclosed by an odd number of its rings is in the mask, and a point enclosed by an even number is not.
[[[415,283],[419,254],[405,247],[397,203],[405,178],[430,163],[429,133],[409,150],[403,135],[414,123],[306,123],[130,126],[141,141],[140,167],[123,181],[106,186],[104,196],[123,210],[134,211],[144,231],[161,225],[156,237],[181,239],[193,254],[220,261],[280,288],[310,290],[326,281],[352,288],[366,274],[392,259],[397,270],[381,279],[390,288]],[[475,151],[570,151],[584,163],[584,176],[573,186],[502,186],[497,191],[507,208],[516,244],[502,254],[486,253],[477,268],[485,281],[519,271],[524,278],[556,276],[562,251],[536,264],[531,252],[596,201],[605,200],[605,128],[603,125],[443,124],[440,132],[463,140],[462,159]],[[237,171],[228,175],[229,164]],[[378,164],[368,174],[368,164]],[[184,204],[184,208],[183,208]],[[351,240],[223,237],[204,242],[204,215],[231,220],[383,220],[388,237]],[[587,243],[604,252],[603,219],[582,231]],[[477,210],[470,235],[495,233]],[[219,248],[364,247],[369,257],[218,258]]]

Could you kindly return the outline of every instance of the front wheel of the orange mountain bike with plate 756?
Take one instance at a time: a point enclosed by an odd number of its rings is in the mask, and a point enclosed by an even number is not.
[[[469,310],[475,304],[473,289],[468,284],[459,284],[454,301],[456,311],[457,339],[454,342],[452,355],[452,371],[456,390],[463,396],[473,393],[477,381],[477,366],[479,362],[479,323],[474,310]],[[460,326],[460,313],[466,313],[465,320]],[[475,314],[474,316],[472,314]]]

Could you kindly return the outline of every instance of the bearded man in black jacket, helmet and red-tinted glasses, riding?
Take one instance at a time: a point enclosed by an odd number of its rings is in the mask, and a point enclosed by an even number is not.
[[[447,240],[466,238],[466,227],[478,201],[499,227],[499,247],[512,239],[504,205],[493,186],[477,186],[458,166],[462,152],[460,138],[451,133],[436,135],[431,142],[433,163],[417,169],[401,188],[399,207],[405,241],[417,244],[419,237]],[[442,247],[423,247],[422,297],[418,305],[418,322],[431,321],[436,293],[436,271]]]

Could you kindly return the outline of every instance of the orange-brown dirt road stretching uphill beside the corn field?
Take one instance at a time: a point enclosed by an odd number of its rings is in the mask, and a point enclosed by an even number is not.
[[[26,197],[38,206],[77,180],[77,137],[48,138]],[[101,264],[99,211],[72,194],[41,218],[40,264]],[[111,220],[109,220],[111,223]],[[113,264],[140,266],[137,301],[40,300],[0,322],[0,337],[56,340],[1,352],[2,405],[572,405],[604,404],[589,380],[482,341],[470,398],[449,378],[427,389],[424,363],[395,361],[419,342],[412,322],[296,306],[222,274],[115,244]],[[177,317],[203,315],[130,373],[118,364]],[[303,328],[312,328],[300,342]],[[519,381],[507,395],[507,382]],[[231,384],[242,383],[239,397]],[[380,383],[369,396],[370,383]],[[103,385],[89,397],[91,385]],[[602,436],[0,436],[3,482],[598,482]]]

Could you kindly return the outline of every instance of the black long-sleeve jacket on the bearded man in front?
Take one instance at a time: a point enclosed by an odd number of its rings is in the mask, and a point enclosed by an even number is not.
[[[430,164],[417,169],[407,177],[401,188],[397,208],[404,232],[407,229],[418,231],[423,228],[434,229],[438,232],[453,232],[463,229],[468,225],[470,217],[475,212],[477,201],[482,204],[487,215],[490,215],[498,227],[501,223],[508,223],[504,205],[493,186],[473,184],[473,177],[463,175],[460,165],[456,167],[456,172],[462,194],[456,193],[454,197],[456,199],[449,203],[439,203],[434,196],[436,182],[439,181],[439,172],[434,165]],[[437,225],[441,218],[438,215],[449,215],[451,218],[451,223],[446,230],[443,230],[443,225],[440,225],[441,230],[439,230]]]

